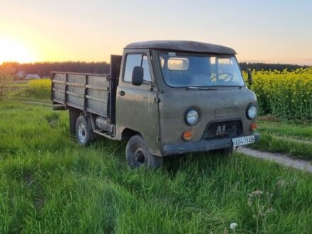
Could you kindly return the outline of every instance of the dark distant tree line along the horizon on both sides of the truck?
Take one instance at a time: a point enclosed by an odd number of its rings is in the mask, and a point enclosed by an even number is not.
[[[38,74],[40,77],[49,76],[50,72],[84,72],[84,73],[97,73],[108,74],[109,64],[107,62],[35,62],[35,63],[18,63],[18,62],[4,62],[1,66],[7,66],[13,68],[15,73],[23,72],[24,74]],[[255,70],[269,70],[276,69],[283,71],[284,69],[294,70],[301,67],[301,65],[290,64],[269,64],[269,63],[247,63],[240,62],[240,68],[242,70],[255,69]]]

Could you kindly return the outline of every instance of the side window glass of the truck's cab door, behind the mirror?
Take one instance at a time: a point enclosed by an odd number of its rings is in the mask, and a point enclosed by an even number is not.
[[[148,65],[148,60],[146,55],[142,54],[130,54],[126,57],[126,67],[125,67],[125,74],[123,80],[125,82],[131,82],[132,79],[132,72],[134,67],[143,67],[144,71],[144,81],[151,82],[150,78],[150,66]]]

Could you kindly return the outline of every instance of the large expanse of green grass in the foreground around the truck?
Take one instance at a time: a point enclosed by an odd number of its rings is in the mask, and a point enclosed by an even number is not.
[[[1,102],[0,129],[0,233],[312,233],[311,174],[207,153],[132,170],[125,143],[78,147],[46,105]]]

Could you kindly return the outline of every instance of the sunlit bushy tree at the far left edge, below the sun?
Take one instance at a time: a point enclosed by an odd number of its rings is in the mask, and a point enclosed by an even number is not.
[[[11,65],[6,63],[0,65],[0,101],[9,92],[14,72]]]

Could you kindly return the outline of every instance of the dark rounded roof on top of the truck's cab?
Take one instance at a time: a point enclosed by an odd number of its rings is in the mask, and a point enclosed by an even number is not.
[[[235,55],[232,48],[223,45],[200,43],[191,40],[147,40],[126,45],[126,49],[160,49],[187,52],[204,52],[222,55]]]

